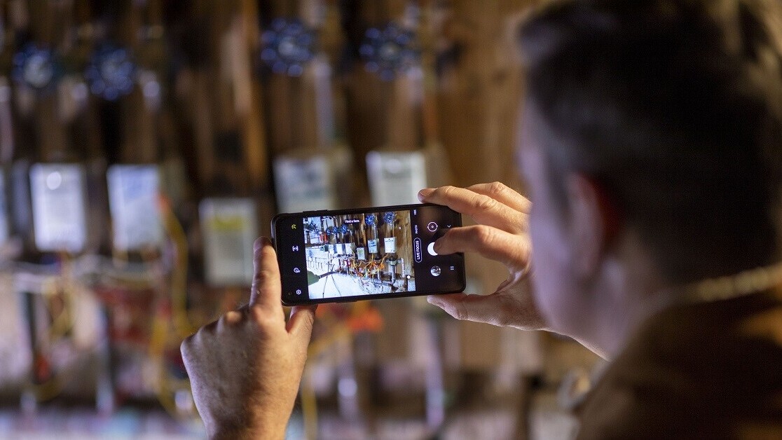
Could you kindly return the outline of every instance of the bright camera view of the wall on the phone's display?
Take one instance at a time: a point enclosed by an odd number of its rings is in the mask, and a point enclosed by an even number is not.
[[[304,219],[310,299],[415,290],[410,211]]]

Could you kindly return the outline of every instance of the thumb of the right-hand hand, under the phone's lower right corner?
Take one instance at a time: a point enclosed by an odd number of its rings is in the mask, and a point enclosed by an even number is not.
[[[485,324],[504,325],[500,313],[504,314],[501,293],[491,295],[429,295],[426,300],[457,320],[468,320]]]

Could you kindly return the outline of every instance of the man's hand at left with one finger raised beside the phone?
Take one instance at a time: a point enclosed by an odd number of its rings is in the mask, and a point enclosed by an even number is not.
[[[249,305],[202,327],[181,345],[195,406],[210,438],[284,438],[307,360],[314,307],[285,322],[277,256],[255,243]]]

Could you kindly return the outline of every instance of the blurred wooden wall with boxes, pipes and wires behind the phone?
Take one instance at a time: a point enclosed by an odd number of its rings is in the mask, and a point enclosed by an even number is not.
[[[275,213],[523,193],[534,3],[0,0],[0,438],[203,438],[179,344]],[[567,437],[601,367],[421,298],[318,316],[289,438]]]

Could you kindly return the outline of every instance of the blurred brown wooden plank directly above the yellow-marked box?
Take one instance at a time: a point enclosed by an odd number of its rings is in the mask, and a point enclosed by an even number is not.
[[[199,0],[190,20],[206,27],[203,58],[188,66],[181,94],[192,105],[189,115],[197,149],[203,195],[255,195],[267,188],[267,156],[260,84],[253,75],[252,54],[258,35],[247,0]]]

